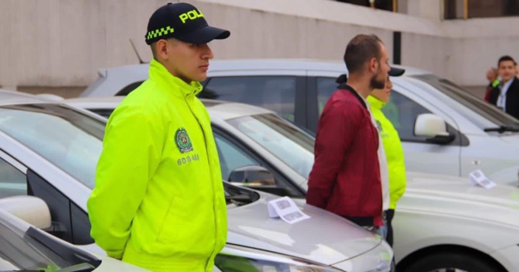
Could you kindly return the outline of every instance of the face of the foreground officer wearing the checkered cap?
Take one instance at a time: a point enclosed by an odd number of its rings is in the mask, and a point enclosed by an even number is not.
[[[206,80],[209,60],[213,58],[209,46],[188,44],[173,38],[167,41],[164,62],[170,73],[187,83]]]

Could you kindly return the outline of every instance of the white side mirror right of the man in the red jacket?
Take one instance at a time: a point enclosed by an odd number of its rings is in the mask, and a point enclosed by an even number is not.
[[[414,134],[428,137],[428,142],[440,145],[447,145],[455,138],[447,132],[445,121],[432,113],[422,113],[416,117]]]

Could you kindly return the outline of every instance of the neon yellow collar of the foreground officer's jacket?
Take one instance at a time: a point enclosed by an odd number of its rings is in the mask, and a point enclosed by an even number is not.
[[[174,95],[179,95],[184,98],[190,94],[197,95],[203,88],[202,84],[198,81],[191,81],[190,84],[187,84],[184,80],[171,75],[168,69],[155,59],[152,59],[149,63],[149,79],[172,88],[173,90],[170,91],[173,92]]]

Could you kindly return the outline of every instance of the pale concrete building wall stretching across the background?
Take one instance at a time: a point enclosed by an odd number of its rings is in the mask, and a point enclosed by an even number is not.
[[[391,54],[392,33],[401,31],[402,64],[462,85],[483,85],[486,69],[500,55],[515,56],[519,28],[513,26],[519,19],[440,21],[440,0],[414,1],[402,5],[412,16],[329,0],[187,2],[210,24],[231,31],[229,39],[211,43],[217,59],[337,60],[359,33],[377,34]],[[0,0],[0,85],[88,85],[99,68],[138,63],[129,39],[147,61],[147,20],[167,2]]]

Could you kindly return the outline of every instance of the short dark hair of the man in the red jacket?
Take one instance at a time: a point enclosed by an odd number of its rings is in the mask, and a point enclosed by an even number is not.
[[[348,42],[344,52],[344,62],[349,73],[356,73],[372,58],[380,60],[383,42],[375,34],[360,34]]]

